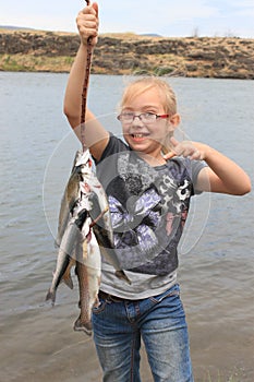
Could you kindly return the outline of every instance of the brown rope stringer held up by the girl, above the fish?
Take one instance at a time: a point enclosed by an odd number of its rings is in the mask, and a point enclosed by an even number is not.
[[[89,5],[90,1],[85,0],[87,5]],[[81,108],[81,142],[83,152],[87,148],[85,145],[85,115],[86,115],[86,104],[87,104],[87,89],[88,89],[88,82],[89,82],[89,73],[90,73],[90,65],[92,65],[92,39],[93,37],[88,37],[87,39],[87,59],[86,59],[86,72],[85,72],[85,79],[83,84],[83,92],[82,92],[82,108]]]

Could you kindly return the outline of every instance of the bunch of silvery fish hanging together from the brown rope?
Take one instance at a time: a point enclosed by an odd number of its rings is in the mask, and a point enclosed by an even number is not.
[[[80,288],[80,317],[75,331],[92,333],[92,308],[98,303],[101,255],[114,266],[116,276],[131,284],[121,270],[113,249],[113,234],[107,195],[92,170],[89,151],[77,152],[61,200],[57,265],[46,300],[56,302],[57,289],[64,282],[71,289],[71,268]]]

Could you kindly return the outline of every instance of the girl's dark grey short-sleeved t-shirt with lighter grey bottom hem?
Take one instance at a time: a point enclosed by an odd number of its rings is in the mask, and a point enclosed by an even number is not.
[[[152,167],[110,135],[96,170],[108,195],[116,253],[132,284],[118,279],[114,268],[102,260],[101,290],[141,299],[176,283],[177,247],[204,166],[176,157]]]

